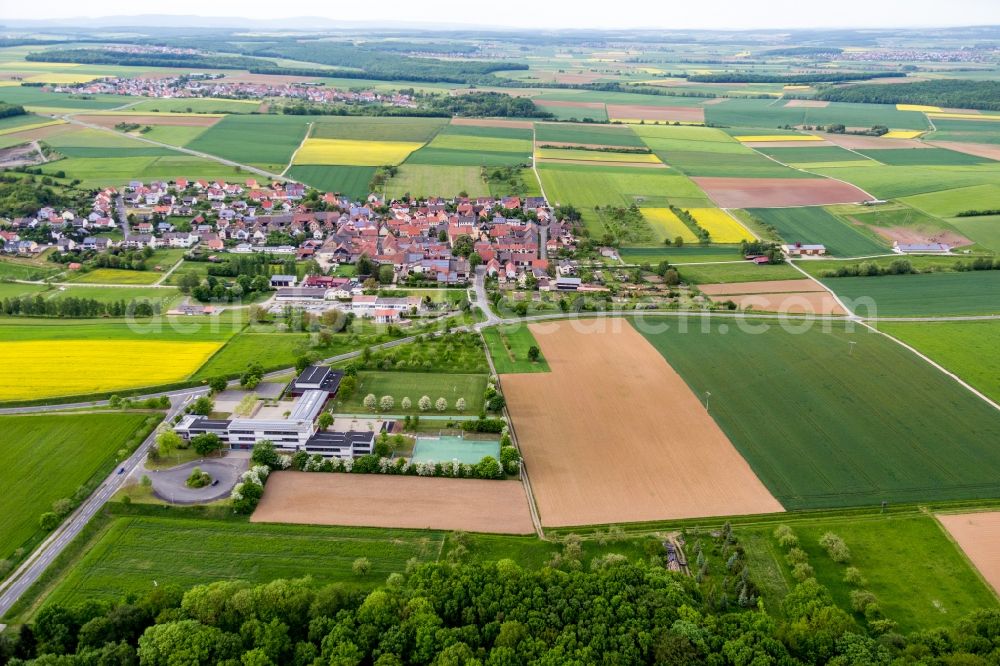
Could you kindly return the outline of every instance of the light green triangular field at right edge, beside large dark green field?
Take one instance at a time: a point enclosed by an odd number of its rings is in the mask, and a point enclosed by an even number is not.
[[[899,338],[1000,402],[1000,321],[880,322]]]

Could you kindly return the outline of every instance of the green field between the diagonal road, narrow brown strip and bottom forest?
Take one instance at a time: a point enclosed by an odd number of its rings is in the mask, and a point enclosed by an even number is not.
[[[430,531],[118,517],[48,601],[114,599],[158,585],[187,588],[216,580],[264,583],[302,576],[370,588],[390,573],[402,572],[411,558],[436,560],[444,538],[444,533]],[[359,557],[371,561],[366,578],[351,572]]]

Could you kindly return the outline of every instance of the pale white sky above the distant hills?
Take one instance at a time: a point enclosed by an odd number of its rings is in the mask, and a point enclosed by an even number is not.
[[[36,0],[0,2],[4,19],[136,14],[320,16],[346,21],[420,22],[519,28],[759,29],[927,27],[1000,24],[1000,0]],[[152,26],[151,26],[152,27]],[[303,26],[308,28],[309,26]]]

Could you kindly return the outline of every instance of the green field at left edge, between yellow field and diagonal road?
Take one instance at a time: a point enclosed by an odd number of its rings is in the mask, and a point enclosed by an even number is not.
[[[146,420],[145,414],[0,416],[0,560],[33,545],[41,514],[72,497],[98,473]]]

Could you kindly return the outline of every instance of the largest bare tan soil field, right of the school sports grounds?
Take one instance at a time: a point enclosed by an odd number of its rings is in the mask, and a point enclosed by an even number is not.
[[[552,371],[502,383],[542,524],[783,510],[629,322],[530,329]]]

